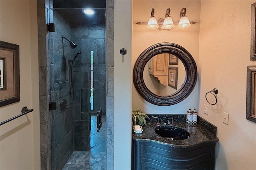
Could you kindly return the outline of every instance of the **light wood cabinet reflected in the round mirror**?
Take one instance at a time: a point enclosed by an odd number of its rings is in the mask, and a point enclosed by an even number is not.
[[[161,84],[167,86],[169,54],[158,54],[148,61],[148,73],[154,76]]]

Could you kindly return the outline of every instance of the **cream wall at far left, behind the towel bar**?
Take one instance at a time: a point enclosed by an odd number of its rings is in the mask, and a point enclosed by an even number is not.
[[[20,102],[0,108],[0,121],[34,111],[0,126],[0,169],[40,169],[37,4],[35,0],[0,1],[0,40],[20,46]],[[33,99],[33,100],[32,100]]]

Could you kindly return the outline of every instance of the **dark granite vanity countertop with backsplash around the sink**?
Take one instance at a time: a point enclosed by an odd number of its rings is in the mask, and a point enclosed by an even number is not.
[[[210,124],[206,120],[198,116],[198,124],[188,125],[186,123],[186,115],[148,115],[150,120],[147,121],[147,125],[143,126],[143,133],[136,134],[132,132],[132,138],[134,140],[153,140],[154,142],[160,142],[162,144],[167,144],[176,148],[190,148],[198,144],[203,143],[215,143],[218,142],[218,137],[216,136],[216,126]],[[174,124],[170,126],[178,126],[187,130],[190,133],[190,137],[184,140],[173,140],[155,133],[154,129],[157,127],[156,119],[152,116],[160,117],[160,125],[163,125],[164,117],[172,119],[172,117],[179,117],[174,120]]]

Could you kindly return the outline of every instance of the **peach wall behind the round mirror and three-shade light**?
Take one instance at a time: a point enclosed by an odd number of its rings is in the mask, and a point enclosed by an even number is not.
[[[154,16],[157,20],[165,18],[167,8],[170,8],[170,16],[174,22],[180,19],[180,10],[186,8],[186,16],[190,21],[198,22],[190,28],[178,30],[148,30],[146,25],[138,25],[136,22],[148,22],[151,9],[155,9]],[[149,46],[159,42],[172,42],[186,48],[198,64],[198,45],[199,45],[199,23],[200,23],[200,1],[192,0],[133,0],[132,6],[132,68],[138,56]],[[142,108],[145,113],[160,114],[185,114],[188,108],[198,106],[198,83],[192,93],[182,102],[172,106],[156,106],[145,101],[132,86],[132,109]]]

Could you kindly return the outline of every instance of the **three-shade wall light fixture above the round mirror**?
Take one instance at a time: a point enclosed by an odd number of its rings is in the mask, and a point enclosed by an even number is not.
[[[185,15],[186,14],[186,8],[182,8],[180,11],[180,21],[179,22],[173,22],[172,17],[170,17],[170,8],[166,10],[165,13],[165,19],[160,18],[158,21],[156,21],[156,18],[154,17],[154,8],[151,10],[151,17],[148,20],[148,22],[136,22],[136,24],[139,25],[147,25],[147,29],[156,29],[158,28],[159,30],[171,30],[174,28],[174,25],[178,25],[178,29],[184,29],[184,28],[189,28],[191,24],[196,24],[194,21],[188,20],[188,17]],[[161,27],[159,27],[159,25]]]

